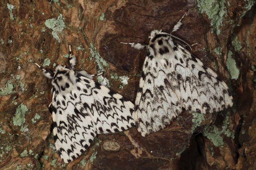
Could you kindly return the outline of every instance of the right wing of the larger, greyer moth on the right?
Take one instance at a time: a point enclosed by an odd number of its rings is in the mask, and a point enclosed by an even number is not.
[[[218,75],[182,46],[177,45],[173,51],[172,70],[175,70],[181,95],[181,105],[186,110],[195,112],[218,112],[233,105],[232,95],[227,84]]]

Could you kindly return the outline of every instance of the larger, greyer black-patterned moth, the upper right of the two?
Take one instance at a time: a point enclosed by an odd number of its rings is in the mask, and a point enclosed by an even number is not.
[[[227,84],[179,43],[186,42],[162,30],[151,31],[149,38],[148,45],[124,43],[147,49],[133,114],[142,136],[165,128],[183,110],[209,113],[232,107]]]

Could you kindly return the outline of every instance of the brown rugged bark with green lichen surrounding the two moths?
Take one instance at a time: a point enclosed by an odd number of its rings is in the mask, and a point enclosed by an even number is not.
[[[0,169],[253,170],[256,167],[255,0],[1,0]],[[227,82],[232,109],[183,112],[166,129],[141,137],[136,128],[98,135],[86,153],[64,164],[55,151],[47,80],[37,62],[105,71],[116,92],[134,102],[153,29],[175,35]],[[56,23],[49,26],[47,23]],[[48,27],[47,27],[48,26]],[[49,28],[50,27],[50,28]],[[123,81],[128,79],[128,84]],[[100,80],[99,80],[100,81]]]

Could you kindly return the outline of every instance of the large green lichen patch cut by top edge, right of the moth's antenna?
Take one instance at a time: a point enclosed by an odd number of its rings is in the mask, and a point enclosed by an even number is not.
[[[225,0],[198,0],[199,12],[207,14],[211,20],[211,25],[217,35],[220,34],[219,26],[224,19],[225,12]]]

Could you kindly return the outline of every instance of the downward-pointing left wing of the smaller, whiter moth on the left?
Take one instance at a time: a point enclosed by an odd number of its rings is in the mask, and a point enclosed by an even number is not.
[[[87,150],[96,136],[96,127],[90,114],[79,111],[81,106],[77,105],[78,100],[71,93],[65,94],[64,99],[53,92],[56,101],[52,102],[55,147],[65,163],[73,161]]]

